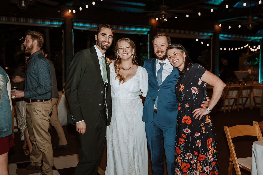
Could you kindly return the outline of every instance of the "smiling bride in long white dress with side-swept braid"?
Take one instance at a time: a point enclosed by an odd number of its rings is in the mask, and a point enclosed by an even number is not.
[[[122,38],[115,46],[117,61],[110,65],[112,120],[107,127],[107,175],[148,174],[148,150],[143,103],[147,71],[136,62],[135,44]]]

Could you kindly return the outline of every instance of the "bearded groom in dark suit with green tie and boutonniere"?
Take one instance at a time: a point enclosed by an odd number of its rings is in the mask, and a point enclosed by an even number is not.
[[[112,45],[114,29],[97,28],[96,44],[75,53],[70,60],[65,95],[67,122],[76,125],[79,163],[75,175],[97,174],[106,126],[112,117],[110,69],[105,52]]]

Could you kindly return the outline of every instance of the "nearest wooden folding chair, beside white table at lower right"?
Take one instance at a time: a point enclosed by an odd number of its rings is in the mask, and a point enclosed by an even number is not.
[[[263,140],[259,125],[254,123],[251,125],[236,125],[228,128],[224,126],[227,143],[230,150],[229,164],[228,164],[228,175],[232,175],[233,165],[237,175],[241,175],[240,167],[251,172],[252,157],[237,158],[235,152],[235,146],[233,145],[232,138],[237,136],[257,136],[257,140]],[[252,149],[252,148],[251,148]]]

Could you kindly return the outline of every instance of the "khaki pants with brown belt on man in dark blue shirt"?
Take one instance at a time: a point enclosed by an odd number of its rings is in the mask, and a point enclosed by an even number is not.
[[[33,143],[30,163],[33,166],[41,166],[43,158],[42,171],[48,175],[53,174],[52,167],[54,166],[52,144],[48,133],[51,110],[51,100],[27,103],[27,128],[29,138]]]

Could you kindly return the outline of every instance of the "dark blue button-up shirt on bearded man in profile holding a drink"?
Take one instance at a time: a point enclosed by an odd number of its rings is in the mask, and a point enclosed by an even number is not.
[[[52,89],[51,67],[39,50],[29,57],[24,96],[27,99],[50,99]]]

